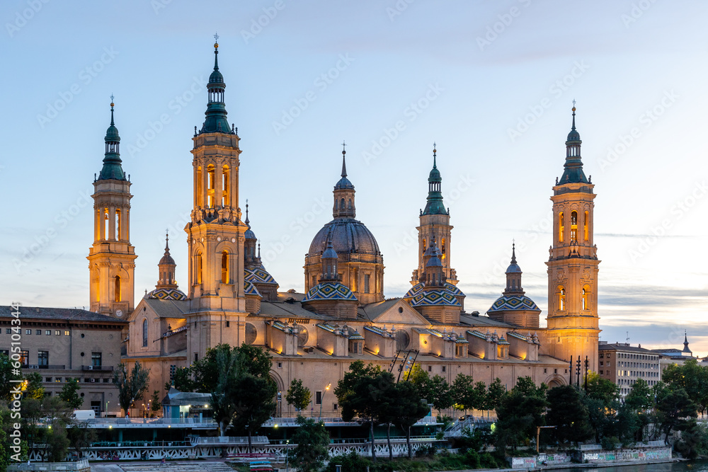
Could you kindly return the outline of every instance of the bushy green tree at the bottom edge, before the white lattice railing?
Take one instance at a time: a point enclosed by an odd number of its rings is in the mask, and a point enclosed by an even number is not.
[[[292,435],[297,447],[288,451],[290,461],[299,471],[319,471],[329,455],[329,433],[324,422],[298,416],[297,424],[299,427]]]

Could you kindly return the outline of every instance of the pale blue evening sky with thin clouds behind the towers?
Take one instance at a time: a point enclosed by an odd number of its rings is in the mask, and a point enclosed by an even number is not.
[[[194,126],[215,32],[263,264],[304,287],[347,144],[384,293],[416,268],[433,142],[467,311],[505,287],[516,241],[547,306],[552,186],[576,100],[595,183],[601,340],[708,354],[708,4],[702,1],[6,0],[0,6],[4,304],[87,306],[93,174],[115,96],[131,175],[135,292],[166,229],[186,287]],[[544,322],[542,322],[543,324]]]

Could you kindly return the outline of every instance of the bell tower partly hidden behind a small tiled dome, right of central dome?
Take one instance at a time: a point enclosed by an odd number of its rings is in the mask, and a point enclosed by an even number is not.
[[[450,211],[442,203],[442,177],[438,171],[438,150],[433,144],[433,168],[428,175],[428,200],[426,208],[421,209],[421,225],[418,226],[418,269],[413,270],[411,284],[418,284],[423,272],[426,272],[426,251],[436,241],[440,252],[440,262],[445,280],[457,285],[457,274],[450,267]]]

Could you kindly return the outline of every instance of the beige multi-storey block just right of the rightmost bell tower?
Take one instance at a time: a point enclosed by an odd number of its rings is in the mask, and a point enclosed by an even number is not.
[[[598,374],[619,386],[619,396],[624,398],[637,379],[644,379],[649,386],[661,381],[661,355],[641,345],[629,343],[598,345]]]

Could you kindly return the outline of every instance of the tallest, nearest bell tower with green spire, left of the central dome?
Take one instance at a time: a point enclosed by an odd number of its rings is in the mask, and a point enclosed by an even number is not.
[[[218,36],[215,35],[217,39]],[[194,199],[185,226],[189,254],[190,329],[188,355],[193,361],[220,343],[244,342],[244,234],[239,208],[239,136],[229,127],[219,44],[207,84],[202,128],[193,137]]]

